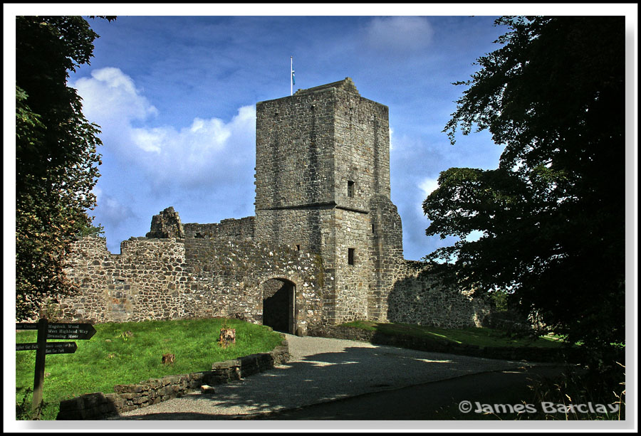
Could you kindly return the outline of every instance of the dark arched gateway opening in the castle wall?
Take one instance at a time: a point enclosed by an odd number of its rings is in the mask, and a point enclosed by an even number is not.
[[[285,279],[263,283],[263,325],[275,331],[294,334],[294,294],[296,285]]]

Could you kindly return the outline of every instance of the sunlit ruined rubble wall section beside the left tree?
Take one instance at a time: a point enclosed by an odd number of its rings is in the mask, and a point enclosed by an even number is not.
[[[63,299],[63,317],[93,322],[181,318],[189,284],[184,244],[170,239],[132,238],[120,255],[103,238],[82,238],[68,252],[68,277],[82,292]]]

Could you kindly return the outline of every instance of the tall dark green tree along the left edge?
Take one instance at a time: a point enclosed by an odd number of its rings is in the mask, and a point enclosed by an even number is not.
[[[36,317],[48,297],[73,290],[63,253],[92,227],[100,130],[67,79],[89,63],[95,38],[80,16],[16,17],[17,319]]]

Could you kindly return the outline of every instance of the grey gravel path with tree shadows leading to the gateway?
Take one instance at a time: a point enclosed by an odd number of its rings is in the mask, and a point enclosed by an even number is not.
[[[273,412],[522,362],[429,353],[361,341],[286,335],[291,360],[248,378],[123,413],[115,420],[205,420]]]

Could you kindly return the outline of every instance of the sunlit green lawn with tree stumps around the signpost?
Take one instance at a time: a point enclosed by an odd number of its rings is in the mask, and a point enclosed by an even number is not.
[[[214,362],[271,351],[282,340],[266,326],[228,319],[227,326],[236,329],[236,344],[222,349],[217,342],[222,322],[214,318],[95,324],[91,339],[75,341],[75,353],[46,356],[43,400],[50,405],[43,419],[56,419],[61,400],[112,393],[118,384],[209,371]],[[125,331],[133,335],[127,337]],[[16,343],[28,342],[36,342],[36,331],[16,331]],[[165,353],[175,355],[173,365],[162,364]],[[23,398],[21,390],[33,388],[35,363],[36,351],[16,351],[16,403]]]

